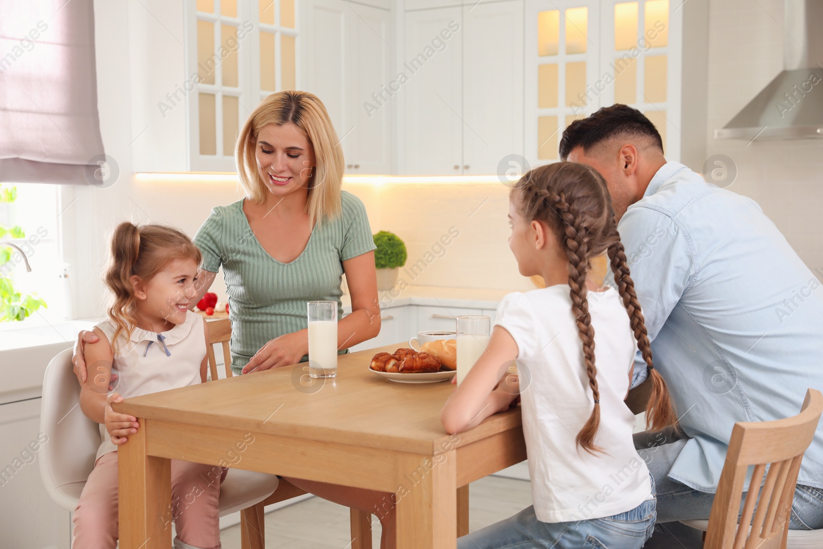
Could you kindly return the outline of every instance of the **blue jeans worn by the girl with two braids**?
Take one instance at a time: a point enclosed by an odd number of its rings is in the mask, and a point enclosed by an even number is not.
[[[652,535],[654,517],[654,499],[625,513],[568,523],[543,523],[532,505],[509,519],[458,537],[458,549],[639,549]]]

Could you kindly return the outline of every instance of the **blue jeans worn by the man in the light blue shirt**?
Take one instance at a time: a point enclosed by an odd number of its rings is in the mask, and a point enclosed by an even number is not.
[[[666,444],[655,442],[666,441]],[[643,432],[635,434],[635,448],[646,462],[657,486],[658,522],[675,520],[709,519],[714,494],[697,491],[690,486],[672,481],[668,472],[688,437],[674,430]],[[743,492],[743,502],[746,492]],[[792,512],[788,528],[790,530],[818,530],[823,528],[823,490],[812,486],[797,485],[794,491]]]

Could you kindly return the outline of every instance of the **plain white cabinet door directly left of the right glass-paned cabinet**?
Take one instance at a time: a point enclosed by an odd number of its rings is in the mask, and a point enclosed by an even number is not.
[[[463,174],[523,156],[523,0],[463,6],[463,120]]]

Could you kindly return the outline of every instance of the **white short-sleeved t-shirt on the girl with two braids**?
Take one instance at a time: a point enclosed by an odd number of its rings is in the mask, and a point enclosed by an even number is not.
[[[495,325],[518,346],[518,373],[532,500],[537,519],[560,523],[634,509],[651,496],[649,470],[632,441],[635,416],[623,399],[637,344],[617,291],[588,293],[594,328],[600,427],[589,454],[575,438],[594,400],[566,284],[500,301]]]

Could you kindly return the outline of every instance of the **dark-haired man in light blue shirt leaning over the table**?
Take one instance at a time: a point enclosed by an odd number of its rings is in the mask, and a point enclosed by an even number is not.
[[[823,389],[821,283],[756,202],[667,162],[636,109],[572,123],[560,157],[607,181],[653,365],[680,416],[681,433],[635,435],[658,522],[708,519],[734,423],[793,416],[807,388]],[[647,370],[638,353],[632,386]],[[823,424],[797,484],[789,528],[823,528]]]

